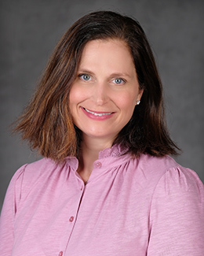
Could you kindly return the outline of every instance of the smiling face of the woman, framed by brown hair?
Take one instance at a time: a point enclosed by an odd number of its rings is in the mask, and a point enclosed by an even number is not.
[[[111,147],[142,93],[133,58],[123,41],[86,44],[69,95],[71,115],[83,136],[104,139]]]

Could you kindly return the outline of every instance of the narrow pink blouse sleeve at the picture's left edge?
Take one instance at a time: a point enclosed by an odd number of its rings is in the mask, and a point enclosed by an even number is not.
[[[5,194],[0,217],[0,255],[10,256],[13,249],[14,219],[20,202],[25,165],[16,171]]]

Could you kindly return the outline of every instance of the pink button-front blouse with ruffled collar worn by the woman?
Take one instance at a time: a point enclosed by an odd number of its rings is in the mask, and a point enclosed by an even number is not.
[[[78,160],[22,166],[0,219],[1,256],[202,256],[204,186],[169,156],[100,152],[85,185]]]

